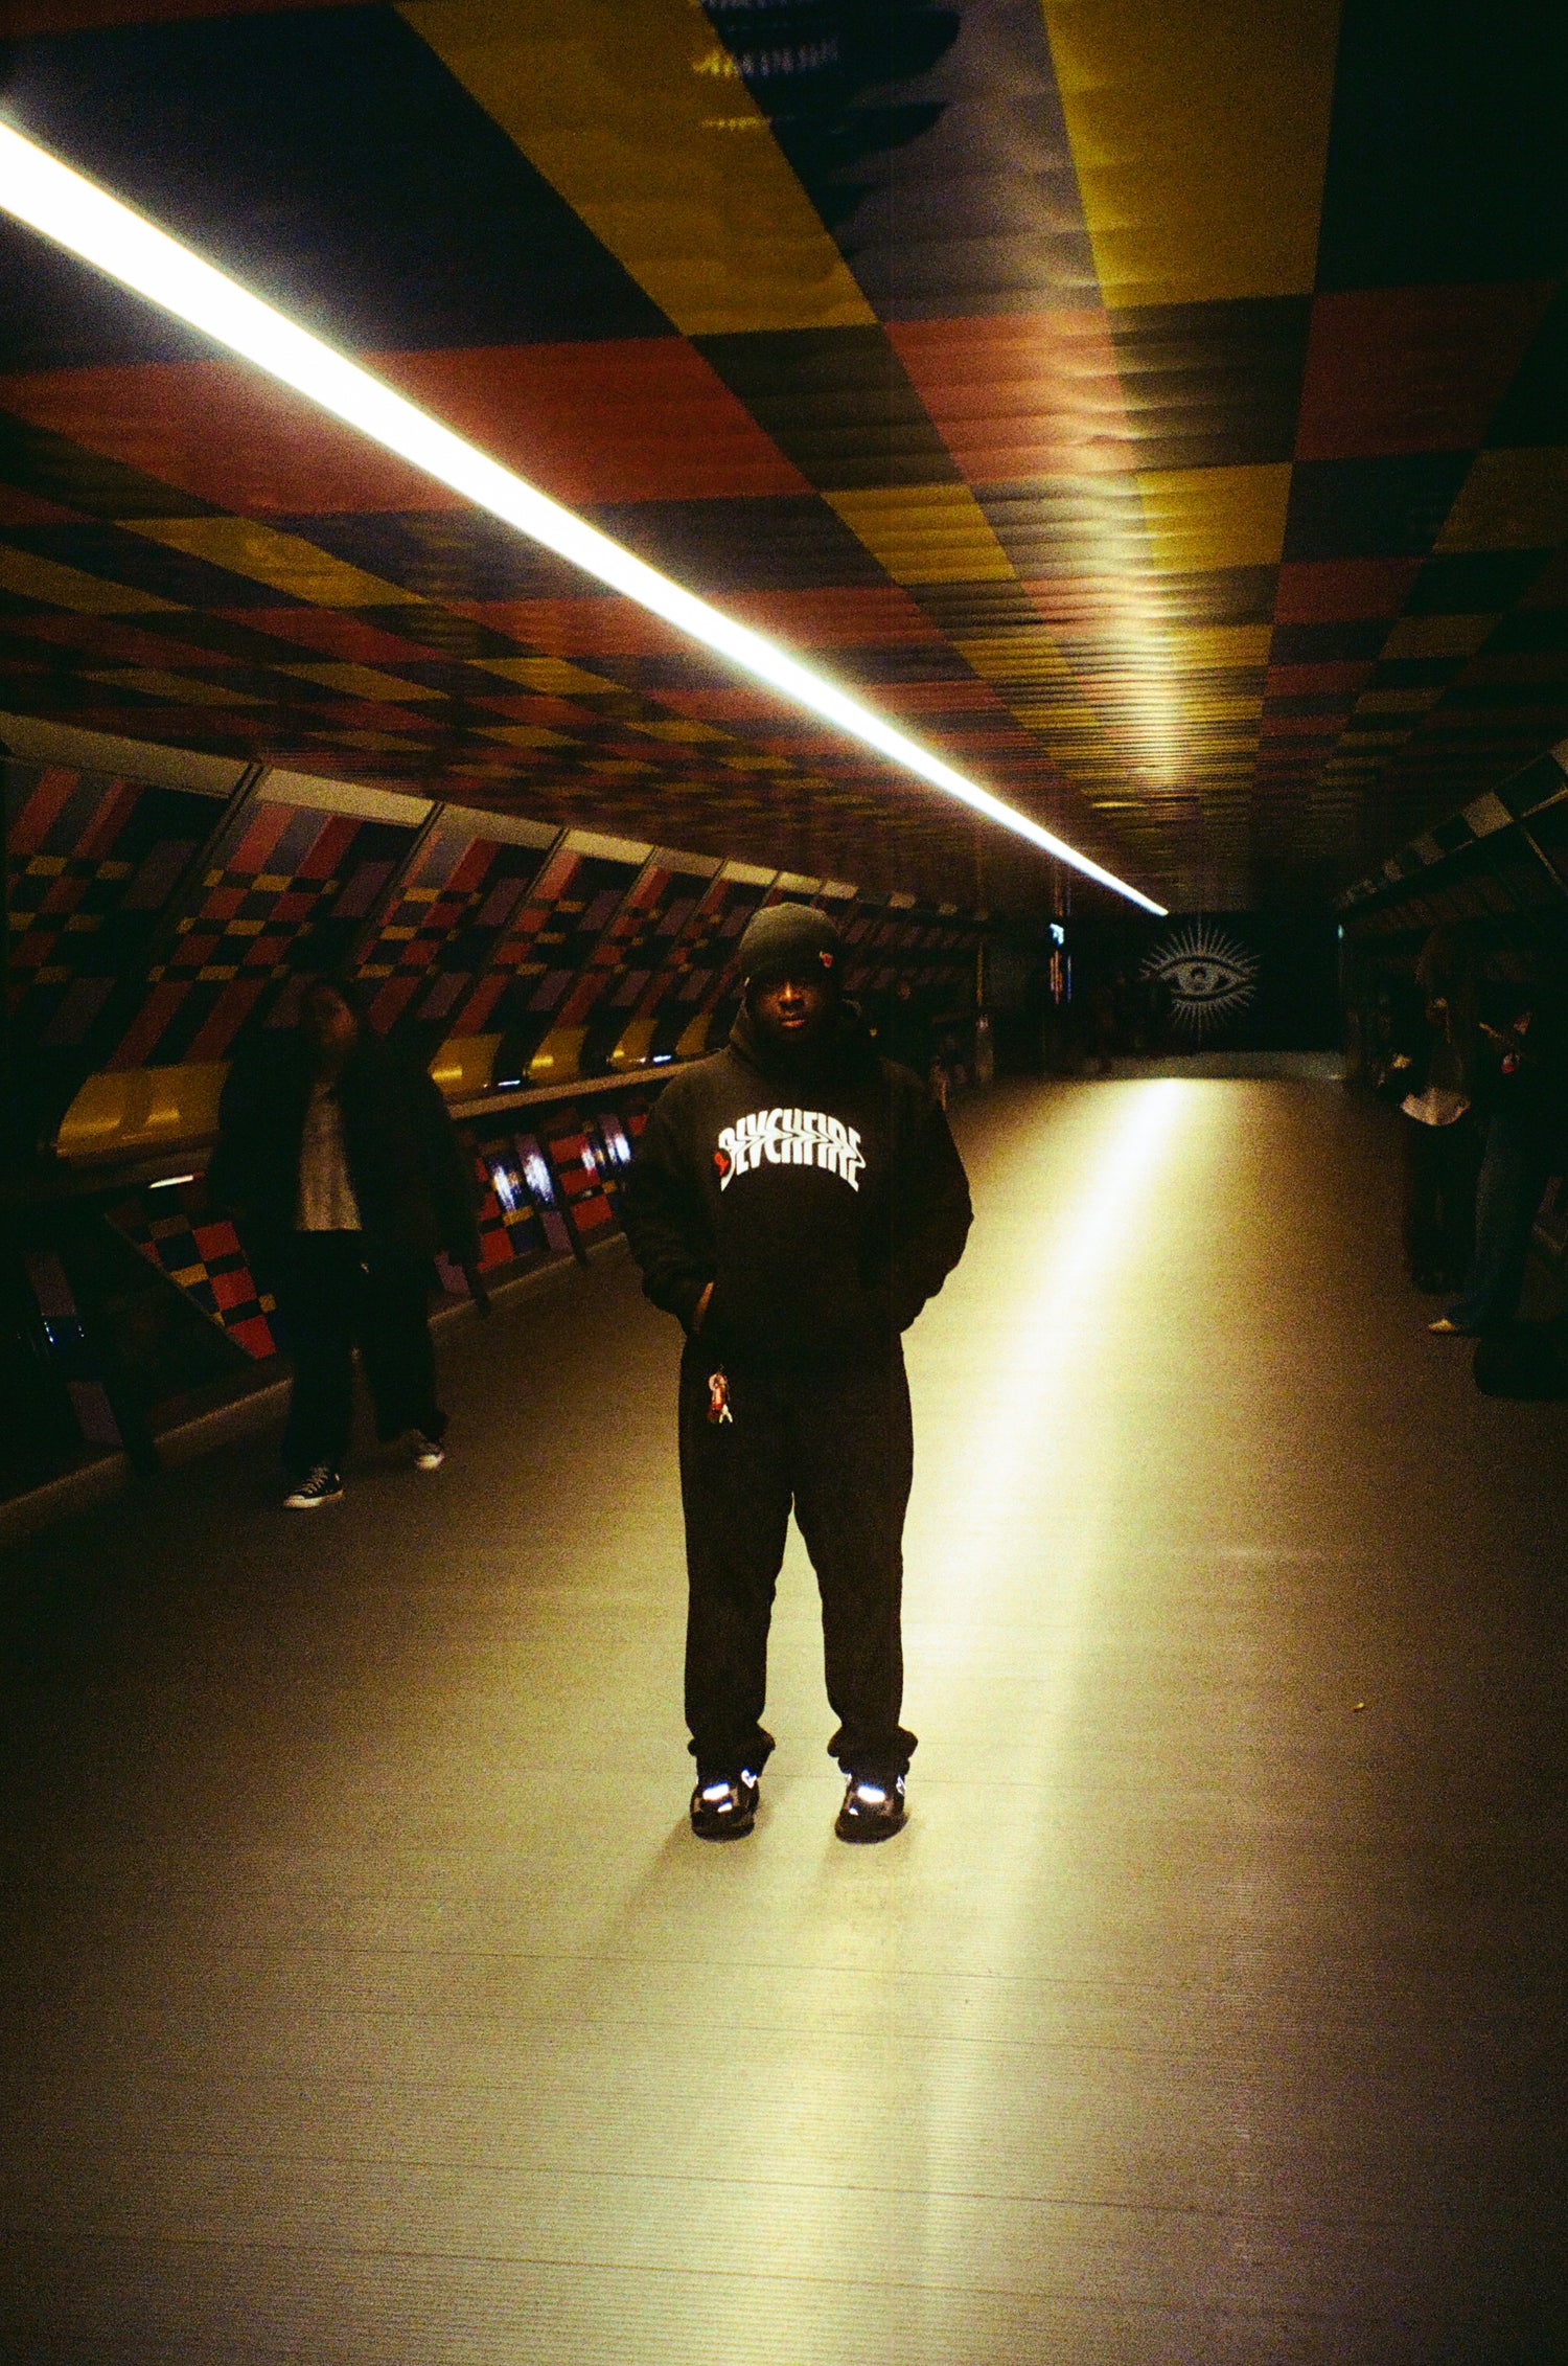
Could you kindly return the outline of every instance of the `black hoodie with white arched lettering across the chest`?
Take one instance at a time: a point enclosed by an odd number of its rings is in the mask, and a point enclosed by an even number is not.
[[[745,1010],[728,1048],[665,1086],[624,1192],[655,1306],[752,1363],[858,1363],[963,1256],[970,1185],[927,1086],[880,1060],[854,1008],[797,1062]]]

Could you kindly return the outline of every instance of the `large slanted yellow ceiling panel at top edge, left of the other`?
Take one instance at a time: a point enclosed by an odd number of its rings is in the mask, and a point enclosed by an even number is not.
[[[875,319],[688,0],[400,14],[686,336]]]

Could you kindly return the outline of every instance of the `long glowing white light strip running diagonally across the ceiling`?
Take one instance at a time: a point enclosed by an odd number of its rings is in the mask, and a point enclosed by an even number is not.
[[[0,206],[14,213],[17,220],[40,230],[47,239],[71,248],[73,256],[109,272],[121,286],[135,289],[137,296],[163,305],[166,312],[189,322],[192,329],[201,329],[203,336],[227,345],[229,353],[255,362],[267,376],[293,386],[296,393],[307,395],[324,412],[359,428],[362,435],[369,435],[383,450],[397,452],[416,468],[423,468],[426,476],[461,492],[478,509],[487,509],[492,518],[516,525],[518,532],[568,558],[584,575],[596,575],[613,592],[622,592],[639,608],[665,618],[667,625],[691,634],[693,641],[702,641],[717,655],[728,658],[731,665],[754,674],[757,681],[783,691],[785,698],[821,715],[823,722],[837,724],[849,738],[875,748],[892,764],[913,771],[948,797],[958,797],[977,814],[984,814],[986,821],[998,821],[1017,838],[1026,838],[1045,854],[1055,854],[1057,861],[1071,864],[1086,878],[1164,918],[1164,904],[1156,904],[1138,887],[1128,887],[1126,880],[1119,880],[1112,871],[1102,871],[1088,854],[1078,854],[1062,838],[1055,838],[1052,830],[1043,830],[1029,814],[1019,814],[1012,804],[993,797],[989,788],[953,771],[941,757],[920,748],[918,741],[906,738],[903,731],[894,731],[870,707],[849,698],[837,684],[814,674],[811,667],[790,658],[759,632],[738,625],[719,608],[710,608],[705,599],[683,592],[681,584],[669,582],[657,568],[634,558],[620,542],[610,542],[608,535],[575,518],[561,502],[551,502],[549,494],[513,476],[511,468],[501,468],[499,461],[487,459],[471,442],[464,442],[461,435],[454,435],[452,428],[416,409],[416,405],[393,393],[390,386],[383,386],[367,369],[343,360],[331,345],[284,319],[260,296],[251,296],[237,286],[234,279],[213,270],[210,263],[180,246],[168,232],[142,220],[130,206],[83,180],[80,173],[73,173],[71,166],[59,163],[57,156],[24,140],[7,123],[0,123]]]

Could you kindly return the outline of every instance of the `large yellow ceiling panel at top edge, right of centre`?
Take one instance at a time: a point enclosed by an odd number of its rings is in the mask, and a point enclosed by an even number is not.
[[[1313,289],[1339,0],[1041,0],[1109,305]]]

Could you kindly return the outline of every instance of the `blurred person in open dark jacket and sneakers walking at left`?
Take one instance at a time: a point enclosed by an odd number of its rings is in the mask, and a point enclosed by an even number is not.
[[[298,1024],[237,1060],[208,1185],[293,1356],[289,1510],[343,1493],[355,1344],[378,1436],[412,1431],[419,1469],[440,1469],[430,1261],[478,1263],[473,1181],[440,1091],[367,1027],[352,987],[312,980]]]

